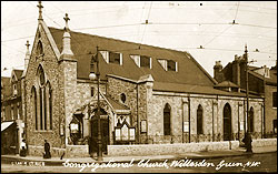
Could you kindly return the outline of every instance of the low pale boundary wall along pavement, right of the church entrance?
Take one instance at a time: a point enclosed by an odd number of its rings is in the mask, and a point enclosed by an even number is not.
[[[239,146],[238,141],[202,142],[186,144],[142,144],[142,145],[108,145],[108,155],[169,155],[200,151],[228,151]]]

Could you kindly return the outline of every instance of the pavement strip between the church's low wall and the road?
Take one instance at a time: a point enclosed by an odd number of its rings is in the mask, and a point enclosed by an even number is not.
[[[206,151],[206,152],[192,152],[192,153],[183,153],[183,154],[171,154],[171,155],[148,155],[148,156],[109,156],[103,155],[103,161],[101,162],[121,162],[121,163],[130,163],[133,160],[133,163],[138,163],[141,160],[150,160],[151,162],[163,162],[165,160],[181,160],[181,158],[192,158],[192,160],[209,160],[209,158],[219,158],[219,157],[229,157],[229,156],[242,156],[250,154],[259,154],[259,153],[272,153],[277,152],[277,146],[264,146],[264,147],[252,147],[252,153],[247,153],[246,149],[238,147],[229,151]],[[72,157],[72,158],[62,158],[51,157],[51,158],[42,158],[42,156],[19,156],[19,155],[1,155],[2,164],[10,164],[11,162],[44,162],[46,166],[57,166],[62,165],[66,161],[70,163],[101,163],[98,162],[97,158],[92,157]]]

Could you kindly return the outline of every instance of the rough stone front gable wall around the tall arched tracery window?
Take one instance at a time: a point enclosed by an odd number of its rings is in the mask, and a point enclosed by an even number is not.
[[[39,38],[40,32],[40,38]],[[39,55],[37,51],[38,41],[42,42],[43,55]],[[34,127],[34,105],[31,100],[31,89],[36,86],[37,96],[39,96],[38,76],[37,71],[39,64],[42,65],[46,79],[50,82],[52,88],[52,130],[40,131]],[[33,49],[31,52],[27,74],[26,74],[26,108],[27,108],[27,144],[42,146],[44,139],[51,144],[51,146],[60,147],[62,145],[60,137],[60,123],[61,123],[61,108],[60,102],[60,85],[59,85],[59,64],[58,58],[50,45],[50,42],[46,35],[46,31],[42,25],[39,24],[38,31],[33,42]],[[39,99],[39,98],[38,98]]]

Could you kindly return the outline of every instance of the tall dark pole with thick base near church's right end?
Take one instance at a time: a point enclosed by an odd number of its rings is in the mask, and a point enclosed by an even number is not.
[[[250,134],[250,116],[249,116],[249,85],[248,85],[248,54],[247,45],[245,47],[246,59],[246,105],[247,105],[247,134],[245,135],[246,152],[252,152],[252,137]]]

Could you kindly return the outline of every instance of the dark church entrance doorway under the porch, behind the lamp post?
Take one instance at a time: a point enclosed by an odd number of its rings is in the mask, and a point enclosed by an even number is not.
[[[95,116],[91,120],[91,142],[89,153],[98,153],[98,117],[97,109],[93,110]],[[101,143],[102,152],[107,153],[107,145],[109,145],[109,116],[103,109],[100,109],[100,133],[101,133]]]

